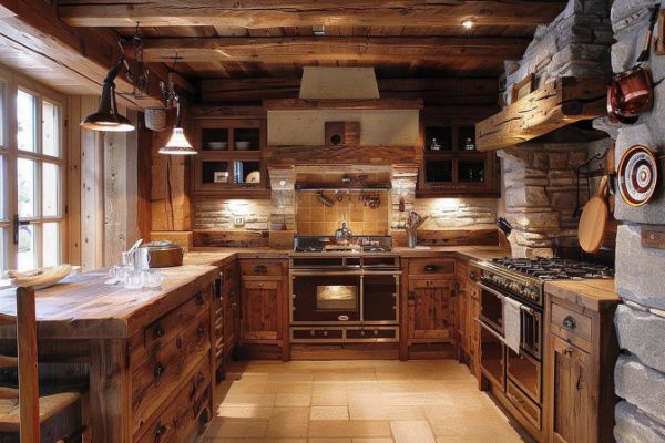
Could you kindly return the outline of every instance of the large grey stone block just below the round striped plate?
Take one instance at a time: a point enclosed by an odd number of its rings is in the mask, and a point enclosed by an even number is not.
[[[617,198],[618,199],[618,198]],[[665,250],[641,246],[637,225],[620,225],[616,236],[616,291],[649,308],[665,309]]]

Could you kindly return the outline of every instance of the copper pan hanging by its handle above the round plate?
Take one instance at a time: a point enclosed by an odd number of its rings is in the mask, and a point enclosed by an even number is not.
[[[652,10],[644,47],[636,64],[627,71],[615,74],[607,89],[607,114],[614,123],[633,124],[641,113],[653,107],[653,81],[644,63],[648,61],[651,54],[651,42],[659,10],[661,3]]]

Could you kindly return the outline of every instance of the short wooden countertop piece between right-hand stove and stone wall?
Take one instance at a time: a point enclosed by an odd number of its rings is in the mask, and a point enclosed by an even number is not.
[[[601,310],[604,305],[621,301],[613,278],[548,281],[545,292],[595,311]]]

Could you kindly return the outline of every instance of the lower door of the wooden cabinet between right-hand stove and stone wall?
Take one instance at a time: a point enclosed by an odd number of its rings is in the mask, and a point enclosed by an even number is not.
[[[590,392],[591,356],[551,334],[553,378],[552,442],[593,443],[593,402]]]

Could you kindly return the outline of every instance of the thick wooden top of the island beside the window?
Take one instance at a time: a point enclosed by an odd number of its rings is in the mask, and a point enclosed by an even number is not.
[[[41,337],[129,338],[145,324],[186,301],[218,276],[212,266],[186,265],[160,269],[164,281],[155,289],[105,285],[105,269],[70,276],[35,292]],[[16,291],[0,291],[0,313],[16,316]]]

